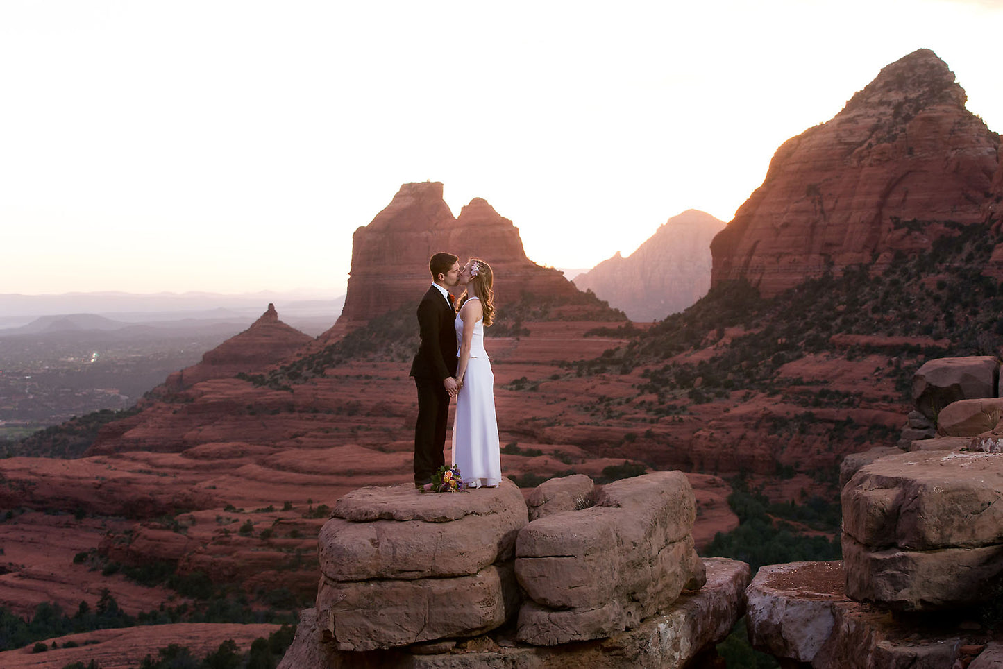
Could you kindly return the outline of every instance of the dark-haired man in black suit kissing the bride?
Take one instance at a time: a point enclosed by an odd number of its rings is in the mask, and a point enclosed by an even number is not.
[[[456,331],[452,296],[448,289],[459,280],[459,259],[437,253],[428,261],[432,285],[418,305],[421,344],[411,364],[410,375],[418,389],[418,419],[414,424],[414,486],[431,481],[445,464],[445,427],[449,397],[457,390]]]

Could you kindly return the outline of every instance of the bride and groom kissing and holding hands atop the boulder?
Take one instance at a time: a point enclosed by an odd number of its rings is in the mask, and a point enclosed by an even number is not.
[[[484,327],[494,320],[494,276],[490,266],[471,258],[437,253],[428,261],[432,285],[418,304],[421,343],[410,375],[418,391],[414,424],[414,486],[429,489],[445,464],[449,400],[456,398],[452,423],[452,464],[464,487],[496,487],[501,481],[494,374],[484,350]],[[449,289],[465,290],[454,301]]]

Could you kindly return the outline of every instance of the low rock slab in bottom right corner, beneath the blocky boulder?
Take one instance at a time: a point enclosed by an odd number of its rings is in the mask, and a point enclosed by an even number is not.
[[[969,669],[1000,666],[1000,639],[964,616],[896,616],[850,600],[840,562],[762,567],[745,595],[752,646],[784,667],[950,669],[973,648]]]

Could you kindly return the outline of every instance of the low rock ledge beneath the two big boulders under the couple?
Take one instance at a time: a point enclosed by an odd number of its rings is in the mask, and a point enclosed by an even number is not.
[[[684,593],[638,627],[607,639],[560,646],[521,644],[515,630],[506,626],[473,639],[346,652],[325,641],[315,610],[308,609],[279,669],[682,669],[723,641],[745,612],[748,565],[709,558],[703,566],[703,588]]]

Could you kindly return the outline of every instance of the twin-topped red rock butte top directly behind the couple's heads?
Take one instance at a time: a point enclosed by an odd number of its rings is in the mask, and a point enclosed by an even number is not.
[[[454,218],[442,200],[442,184],[404,184],[387,208],[352,236],[348,293],[336,327],[351,329],[417,303],[431,284],[428,259],[438,252],[458,256],[460,264],[471,257],[486,261],[500,303],[515,302],[523,293],[578,292],[561,272],[529,260],[519,229],[486,201],[474,198]]]

